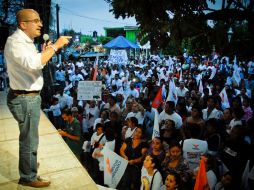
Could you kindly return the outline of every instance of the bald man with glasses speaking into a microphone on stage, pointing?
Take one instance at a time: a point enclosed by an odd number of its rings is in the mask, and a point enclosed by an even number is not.
[[[49,181],[37,176],[38,125],[43,86],[42,69],[55,52],[69,43],[61,36],[54,44],[44,44],[38,53],[34,38],[41,35],[42,21],[33,9],[22,9],[16,15],[18,28],[8,37],[4,55],[10,79],[7,105],[19,125],[19,184],[47,187]]]

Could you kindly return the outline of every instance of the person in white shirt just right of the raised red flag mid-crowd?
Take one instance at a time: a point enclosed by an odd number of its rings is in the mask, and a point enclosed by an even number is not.
[[[171,119],[175,122],[176,129],[181,129],[183,122],[181,116],[175,112],[175,103],[173,101],[167,101],[165,109],[159,115],[159,125],[163,129],[165,120]]]

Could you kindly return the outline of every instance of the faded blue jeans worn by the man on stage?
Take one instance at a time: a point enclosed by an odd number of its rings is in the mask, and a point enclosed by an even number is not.
[[[19,125],[19,174],[20,180],[37,179],[38,125],[40,120],[40,95],[14,95],[9,92],[7,105]]]

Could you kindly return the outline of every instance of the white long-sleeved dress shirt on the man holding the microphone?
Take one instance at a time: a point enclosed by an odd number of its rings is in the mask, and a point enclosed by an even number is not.
[[[41,53],[32,39],[17,29],[8,37],[4,56],[13,90],[41,90],[43,86]]]

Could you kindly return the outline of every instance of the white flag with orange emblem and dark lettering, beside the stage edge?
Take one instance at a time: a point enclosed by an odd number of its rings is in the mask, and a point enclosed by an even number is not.
[[[104,155],[104,183],[111,188],[116,188],[126,170],[128,160],[107,147],[103,148],[102,153]]]

